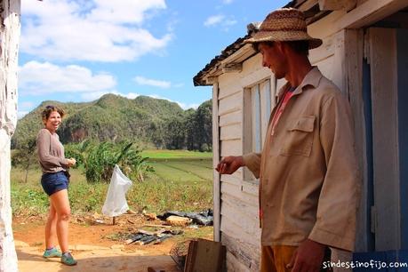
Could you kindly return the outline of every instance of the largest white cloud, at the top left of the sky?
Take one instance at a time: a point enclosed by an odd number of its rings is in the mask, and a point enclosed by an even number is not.
[[[22,0],[21,7],[20,50],[45,60],[135,60],[172,39],[141,26],[164,0]]]

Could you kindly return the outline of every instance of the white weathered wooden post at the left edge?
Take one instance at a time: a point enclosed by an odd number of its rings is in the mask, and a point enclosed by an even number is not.
[[[11,138],[17,124],[20,0],[0,0],[0,271],[18,271],[12,236]]]

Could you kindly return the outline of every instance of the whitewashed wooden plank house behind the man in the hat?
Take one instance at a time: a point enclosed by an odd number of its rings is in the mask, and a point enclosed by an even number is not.
[[[361,253],[355,257],[377,252],[381,260],[403,260],[408,256],[408,0],[295,0],[286,7],[305,12],[309,35],[323,39],[309,59],[340,87],[353,110],[363,187],[356,237]],[[194,77],[195,85],[212,85],[214,165],[223,156],[261,150],[276,92],[284,84],[243,43],[257,27],[249,25],[247,36]],[[233,175],[214,171],[213,185],[214,238],[227,246],[228,271],[258,271],[259,180],[245,168]]]

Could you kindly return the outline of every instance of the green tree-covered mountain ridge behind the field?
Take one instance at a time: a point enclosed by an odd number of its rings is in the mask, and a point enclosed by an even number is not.
[[[26,140],[36,137],[38,131],[44,127],[41,111],[46,105],[59,106],[66,112],[58,131],[62,143],[79,142],[85,139],[132,140],[140,144],[153,144],[156,148],[189,148],[192,145],[188,140],[198,139],[197,136],[188,135],[192,132],[189,132],[191,129],[187,127],[191,127],[192,121],[203,119],[203,116],[197,116],[198,109],[185,111],[177,103],[147,96],[129,100],[115,94],[106,94],[99,100],[87,103],[61,103],[49,100],[41,103],[18,121],[16,132],[12,137],[12,148],[19,148]],[[200,107],[207,109],[200,112],[205,112],[207,115],[209,110],[211,112],[209,101],[204,102],[203,107]],[[209,110],[208,107],[210,107]],[[204,119],[208,119],[208,116]],[[209,119],[211,121],[211,117]],[[177,128],[173,125],[175,121],[180,123]],[[200,121],[199,124],[197,122],[194,130],[200,129],[196,127],[197,125],[204,126],[203,122]],[[208,130],[208,124],[205,124],[205,128]],[[172,135],[178,137],[177,144],[174,144]],[[194,148],[200,149],[203,144],[207,145],[204,147],[212,146],[208,136],[200,136],[200,139],[206,142],[198,142]]]

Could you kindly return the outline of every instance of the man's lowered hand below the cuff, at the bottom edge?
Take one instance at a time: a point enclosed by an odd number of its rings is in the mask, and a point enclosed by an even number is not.
[[[293,253],[287,268],[292,272],[308,271],[318,272],[323,264],[325,245],[306,239]]]

